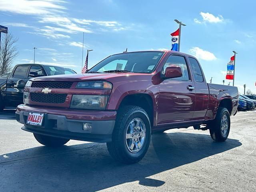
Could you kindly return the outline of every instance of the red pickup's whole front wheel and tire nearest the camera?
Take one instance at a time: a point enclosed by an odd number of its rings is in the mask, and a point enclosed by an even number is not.
[[[146,154],[151,139],[148,114],[138,106],[124,106],[118,112],[112,133],[112,142],[107,143],[109,154],[118,162],[132,164]]]

